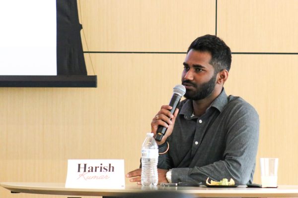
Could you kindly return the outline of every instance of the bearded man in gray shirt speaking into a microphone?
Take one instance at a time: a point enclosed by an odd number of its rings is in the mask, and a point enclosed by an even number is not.
[[[182,72],[186,99],[173,115],[169,105],[161,106],[151,122],[154,134],[158,125],[167,127],[158,143],[163,153],[158,158],[159,183],[205,183],[208,177],[252,183],[259,117],[246,101],[225,94],[230,64],[231,51],[216,36],[199,37],[190,45]],[[140,183],[140,176],[141,169],[127,174],[131,182]]]

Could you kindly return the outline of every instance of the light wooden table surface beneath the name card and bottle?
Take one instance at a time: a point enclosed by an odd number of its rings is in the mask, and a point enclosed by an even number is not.
[[[126,185],[124,189],[70,189],[65,183],[21,183],[2,182],[0,186],[15,193],[69,196],[125,196],[148,191],[178,191],[201,198],[298,198],[298,186],[281,185],[278,188],[207,188],[200,187],[142,187],[137,184]]]

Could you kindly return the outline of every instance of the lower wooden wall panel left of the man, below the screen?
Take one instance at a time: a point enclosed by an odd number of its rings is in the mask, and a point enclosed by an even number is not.
[[[126,172],[138,168],[184,56],[91,54],[98,88],[0,88],[0,181],[65,182],[67,159],[125,159]]]

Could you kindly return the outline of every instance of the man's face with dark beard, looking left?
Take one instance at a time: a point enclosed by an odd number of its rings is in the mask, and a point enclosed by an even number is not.
[[[182,85],[186,88],[187,99],[200,100],[208,97],[214,90],[217,75],[209,63],[211,54],[191,49],[183,62]]]

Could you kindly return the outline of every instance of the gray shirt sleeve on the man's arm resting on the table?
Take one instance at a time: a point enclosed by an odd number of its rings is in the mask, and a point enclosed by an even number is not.
[[[234,103],[226,118],[223,160],[202,167],[173,168],[172,182],[220,181],[232,178],[237,185],[252,181],[259,139],[259,116],[248,103]]]

